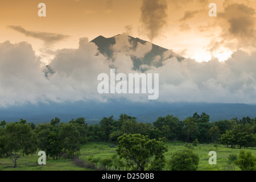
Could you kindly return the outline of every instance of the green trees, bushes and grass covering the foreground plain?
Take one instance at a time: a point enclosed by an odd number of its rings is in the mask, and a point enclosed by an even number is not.
[[[24,119],[2,121],[0,158],[9,159],[13,167],[20,168],[18,159],[22,161],[26,155],[42,150],[47,163],[69,161],[69,165],[93,170],[200,170],[209,169],[200,166],[201,160],[209,159],[205,155],[210,150],[217,150],[218,159],[221,152],[225,156],[221,161],[224,169],[227,164],[232,169],[236,165],[241,170],[255,170],[256,118],[210,123],[209,115],[195,113],[183,121],[173,115],[159,117],[154,123],[136,119],[121,114],[118,120],[104,117],[89,126],[84,118],[63,123],[56,117],[37,126]],[[96,147],[93,153],[88,152],[95,142],[104,142],[101,145],[108,145],[108,150]],[[206,149],[204,145],[210,147]],[[225,150],[236,154],[224,155]],[[0,169],[2,165],[1,162]],[[38,168],[42,167],[37,164]]]

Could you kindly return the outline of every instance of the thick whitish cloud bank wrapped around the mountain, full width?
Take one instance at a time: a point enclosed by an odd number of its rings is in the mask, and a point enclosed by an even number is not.
[[[121,39],[119,39],[121,41]],[[129,47],[129,42],[116,44]],[[114,47],[117,48],[117,47]],[[41,68],[40,57],[26,42],[0,43],[0,106],[38,102],[127,100],[148,102],[148,94],[99,94],[97,76],[137,73],[131,56],[141,57],[148,44],[139,44],[131,53],[119,49],[112,59],[102,55],[94,43],[81,38],[79,48],[60,49],[47,67]],[[144,51],[147,52],[147,51]],[[137,55],[138,54],[138,55]],[[145,73],[159,73],[157,102],[256,103],[256,52],[236,51],[224,62],[213,59],[198,63],[176,58],[163,61],[163,66],[148,66]],[[118,82],[118,81],[117,81]]]

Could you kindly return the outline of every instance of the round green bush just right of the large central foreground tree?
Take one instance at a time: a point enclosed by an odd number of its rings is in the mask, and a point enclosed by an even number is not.
[[[199,165],[199,155],[191,149],[176,151],[168,161],[171,171],[196,171]]]

